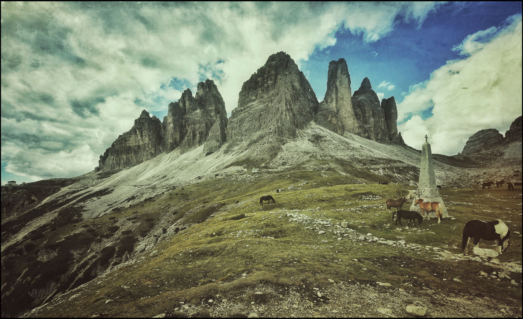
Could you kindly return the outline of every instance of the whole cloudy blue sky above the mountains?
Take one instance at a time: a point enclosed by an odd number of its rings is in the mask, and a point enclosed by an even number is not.
[[[230,112],[273,53],[297,62],[319,100],[345,58],[398,102],[417,149],[454,155],[521,115],[521,3],[2,3],[2,183],[97,166],[141,110],[213,79]]]

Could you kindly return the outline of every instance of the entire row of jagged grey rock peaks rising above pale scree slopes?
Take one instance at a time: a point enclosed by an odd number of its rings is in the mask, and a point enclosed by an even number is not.
[[[208,156],[225,143],[225,151],[230,151],[240,143],[271,140],[274,143],[259,150],[271,154],[311,121],[340,135],[353,133],[380,143],[404,144],[396,120],[394,97],[380,104],[368,78],[351,96],[343,58],[329,63],[327,91],[319,103],[298,65],[285,52],[278,52],[244,82],[238,107],[229,119],[218,87],[207,79],[198,84],[194,97],[187,89],[170,103],[162,122],[142,111],[130,131],[100,156],[96,170],[121,170],[163,152],[177,149],[183,154],[201,145]]]

